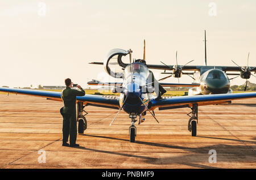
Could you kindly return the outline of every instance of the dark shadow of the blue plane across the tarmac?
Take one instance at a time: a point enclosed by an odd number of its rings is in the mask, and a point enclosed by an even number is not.
[[[86,135],[84,136],[91,136],[94,138],[105,138],[105,139],[112,139],[112,140],[121,140],[124,142],[129,142],[129,139],[121,139],[121,138],[113,138],[108,136],[98,136],[98,135]],[[198,136],[199,138],[209,138],[209,139],[220,139],[220,140],[230,140],[236,141],[239,143],[253,143],[256,144],[256,141],[248,141],[248,140],[239,140],[239,139],[227,139],[227,138],[215,138],[215,137],[207,137],[207,136]],[[254,138],[256,140],[256,138]],[[130,143],[130,142],[129,142]],[[191,147],[183,147],[178,145],[170,145],[170,144],[160,144],[160,143],[151,143],[151,142],[142,142],[136,141],[137,144],[144,144],[144,145],[152,145],[155,147],[164,147],[170,149],[182,149],[184,151],[189,151],[191,153],[181,153],[181,156],[170,156],[170,157],[147,157],[147,156],[139,156],[139,155],[130,155],[127,153],[119,153],[119,152],[110,152],[110,151],[102,151],[98,149],[91,149],[85,147],[79,147],[80,149],[85,149],[87,151],[94,151],[94,152],[102,152],[102,153],[109,153],[112,155],[119,155],[119,156],[127,156],[127,157],[135,157],[135,158],[142,158],[145,160],[144,162],[148,164],[156,164],[156,165],[168,165],[168,164],[180,164],[186,166],[192,166],[195,168],[216,168],[213,166],[202,165],[197,163],[209,163],[209,150],[215,149],[217,151],[217,162],[245,162],[245,158],[255,159],[255,145],[253,147],[245,145],[229,145],[229,144],[216,144],[216,145],[207,145],[205,147],[199,148],[191,148]],[[172,152],[170,151],[170,154]],[[204,160],[204,161],[202,161]],[[170,166],[171,168],[171,166]]]

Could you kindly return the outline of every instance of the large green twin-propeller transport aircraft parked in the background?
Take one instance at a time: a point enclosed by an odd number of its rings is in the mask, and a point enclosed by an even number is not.
[[[211,94],[221,94],[221,93],[232,93],[232,89],[230,89],[230,80],[238,78],[241,76],[242,79],[246,79],[246,84],[245,84],[245,91],[247,88],[247,82],[248,79],[250,79],[250,76],[255,75],[256,73],[256,67],[249,67],[249,54],[247,57],[247,66],[207,66],[207,46],[206,46],[206,31],[205,31],[205,36],[204,36],[204,42],[205,42],[205,59],[204,59],[204,66],[188,66],[188,63],[192,62],[189,61],[183,66],[178,65],[177,63],[177,52],[176,52],[176,65],[166,65],[165,63],[161,62],[163,65],[150,65],[147,64],[146,66],[148,68],[156,69],[156,70],[164,70],[162,74],[169,74],[165,78],[159,79],[164,80],[167,78],[170,78],[173,76],[174,78],[181,78],[181,76],[188,75],[190,76],[193,80],[194,83],[199,83],[200,85],[198,87],[193,87],[190,88],[188,91],[189,96],[193,95],[211,95]],[[145,46],[144,46],[145,49]],[[143,58],[145,55],[143,55]],[[125,68],[128,64],[123,63],[121,58],[117,59],[117,62],[119,66]],[[96,65],[105,65],[104,63],[101,62],[92,62],[91,64],[96,64]],[[105,66],[106,67],[106,66]],[[166,71],[172,71],[172,72],[166,72]],[[183,72],[186,71],[186,72]],[[189,71],[189,72],[188,72]],[[192,72],[191,72],[192,71]],[[226,73],[226,72],[229,73]],[[237,73],[234,73],[237,72]],[[240,74],[238,74],[240,72]],[[193,77],[191,76],[193,75]],[[237,75],[234,78],[229,79],[228,75]]]

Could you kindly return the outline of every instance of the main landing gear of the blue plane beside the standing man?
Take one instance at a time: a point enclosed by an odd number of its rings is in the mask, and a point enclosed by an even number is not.
[[[79,134],[82,135],[84,134],[84,130],[86,130],[87,128],[87,121],[85,118],[85,115],[87,115],[88,113],[84,110],[84,104],[83,102],[77,102],[77,117],[76,117],[76,121],[79,122],[79,127],[78,127],[78,131]],[[83,113],[86,114],[83,114]]]

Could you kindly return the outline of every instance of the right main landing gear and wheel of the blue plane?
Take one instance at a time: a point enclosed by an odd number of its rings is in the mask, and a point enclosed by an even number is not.
[[[192,112],[187,114],[190,117],[188,120],[188,131],[191,132],[192,136],[196,136],[196,125],[198,123],[198,104],[193,104],[191,110]]]

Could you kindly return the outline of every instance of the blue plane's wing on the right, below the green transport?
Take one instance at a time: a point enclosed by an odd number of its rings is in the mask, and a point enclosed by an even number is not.
[[[171,97],[162,100],[153,100],[151,109],[159,108],[159,110],[164,110],[185,108],[192,107],[193,104],[198,104],[199,106],[221,104],[243,98],[256,98],[256,92]]]

